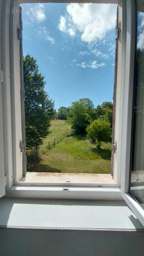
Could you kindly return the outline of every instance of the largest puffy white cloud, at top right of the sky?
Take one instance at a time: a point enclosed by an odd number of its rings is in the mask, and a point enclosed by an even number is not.
[[[115,28],[116,4],[68,4],[67,14],[67,24],[81,32],[82,41],[96,42]]]

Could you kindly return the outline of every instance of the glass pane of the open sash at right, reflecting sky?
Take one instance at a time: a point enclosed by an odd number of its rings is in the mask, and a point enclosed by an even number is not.
[[[133,157],[130,193],[144,203],[144,13],[137,12]]]

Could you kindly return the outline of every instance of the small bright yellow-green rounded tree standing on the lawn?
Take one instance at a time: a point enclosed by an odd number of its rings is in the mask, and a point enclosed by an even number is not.
[[[94,120],[92,124],[90,124],[86,128],[87,136],[94,140],[97,140],[99,143],[99,147],[101,142],[110,142],[111,141],[111,128],[110,123],[106,122],[106,120]]]

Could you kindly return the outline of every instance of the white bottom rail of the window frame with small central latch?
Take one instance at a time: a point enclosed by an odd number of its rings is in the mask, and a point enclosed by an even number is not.
[[[62,187],[62,186],[12,186],[5,197],[76,199],[76,200],[123,200],[116,187]]]

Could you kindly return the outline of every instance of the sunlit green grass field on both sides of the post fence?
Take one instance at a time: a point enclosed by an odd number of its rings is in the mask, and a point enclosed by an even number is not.
[[[64,120],[53,120],[52,132],[44,139],[48,141],[60,137],[70,129]],[[28,172],[65,173],[110,173],[111,143],[102,143],[101,148],[92,144],[86,136],[68,136],[51,150],[47,150],[39,163],[28,166]]]

